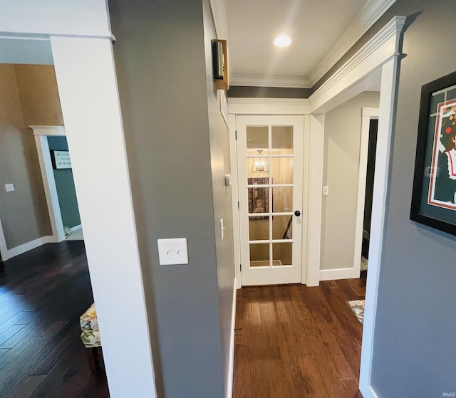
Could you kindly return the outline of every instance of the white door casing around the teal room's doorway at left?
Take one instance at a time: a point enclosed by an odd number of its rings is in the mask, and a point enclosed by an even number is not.
[[[33,129],[33,127],[31,128]],[[47,127],[40,131],[45,132],[46,130],[49,132],[62,132],[61,129],[47,129]],[[38,132],[38,129],[36,131]],[[33,133],[34,132],[35,129],[33,129]],[[63,135],[64,133],[65,129],[63,128]],[[48,137],[46,135],[38,135],[37,133],[35,135],[35,144],[36,152],[38,153],[38,162],[40,164],[41,178],[43,179],[46,204],[48,206],[49,220],[51,221],[53,239],[56,242],[61,242],[65,240],[65,232],[63,231],[62,214],[58,201],[56,179],[54,178],[52,168],[51,153],[49,152]]]

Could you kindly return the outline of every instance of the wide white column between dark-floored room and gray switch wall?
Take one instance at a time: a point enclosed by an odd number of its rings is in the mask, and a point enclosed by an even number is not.
[[[51,36],[51,46],[110,396],[155,397],[112,44]]]

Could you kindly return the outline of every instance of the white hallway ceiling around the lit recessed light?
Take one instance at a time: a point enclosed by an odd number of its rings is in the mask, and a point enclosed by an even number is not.
[[[224,0],[231,85],[311,87],[394,1]]]

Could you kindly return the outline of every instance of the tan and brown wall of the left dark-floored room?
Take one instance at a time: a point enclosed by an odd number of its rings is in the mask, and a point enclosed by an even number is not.
[[[52,65],[0,64],[0,219],[9,249],[52,234],[27,126],[62,124]],[[5,192],[9,183],[14,192]]]

